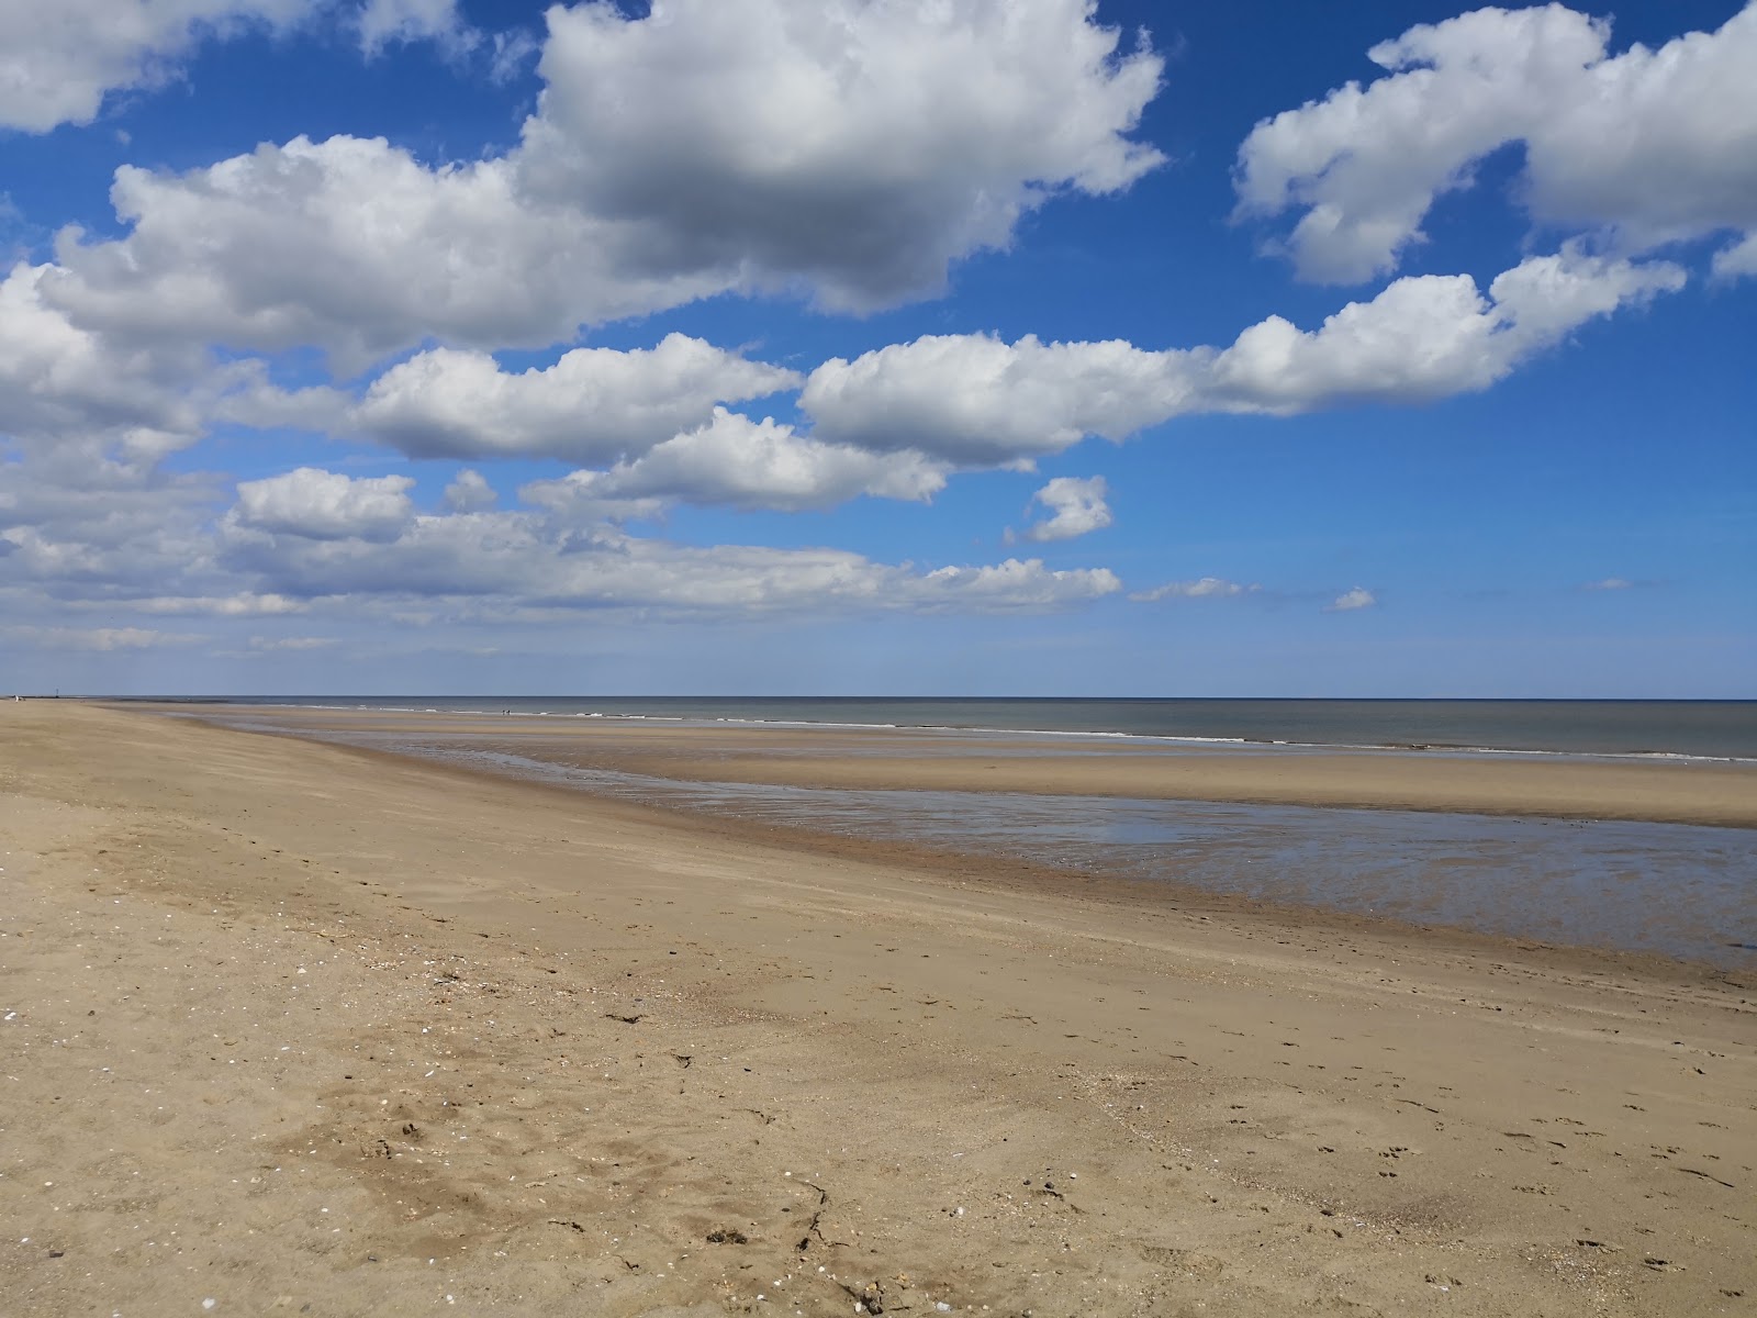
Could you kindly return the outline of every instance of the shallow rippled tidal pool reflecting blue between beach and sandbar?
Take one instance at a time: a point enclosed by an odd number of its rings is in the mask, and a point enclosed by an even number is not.
[[[722,817],[1414,924],[1757,967],[1757,829],[680,782],[457,742],[322,736]]]

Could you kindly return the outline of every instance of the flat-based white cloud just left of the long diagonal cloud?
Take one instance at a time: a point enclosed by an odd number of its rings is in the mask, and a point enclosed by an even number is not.
[[[351,425],[413,457],[613,462],[706,422],[713,404],[775,394],[799,376],[668,334],[655,348],[575,348],[555,366],[503,371],[436,348],[372,381]]]

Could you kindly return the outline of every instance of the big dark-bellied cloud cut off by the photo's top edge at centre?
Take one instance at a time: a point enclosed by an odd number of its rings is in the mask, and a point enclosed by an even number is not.
[[[1047,195],[1116,192],[1160,162],[1128,134],[1161,62],[1117,56],[1093,11],[671,0],[631,21],[557,7],[525,127],[531,186],[641,220],[629,257],[647,269],[803,278],[838,308],[933,292]]]

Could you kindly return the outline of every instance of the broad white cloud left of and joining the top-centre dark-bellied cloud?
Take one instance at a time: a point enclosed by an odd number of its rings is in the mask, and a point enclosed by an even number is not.
[[[46,293],[128,341],[327,348],[353,373],[427,337],[497,348],[720,285],[618,267],[610,225],[520,195],[506,160],[429,169],[383,139],[295,137],[186,174],[123,167],[127,237],[65,230]]]

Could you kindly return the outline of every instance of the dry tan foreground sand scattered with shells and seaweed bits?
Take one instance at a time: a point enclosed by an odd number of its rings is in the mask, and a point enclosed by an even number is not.
[[[0,866],[7,1313],[1757,1313],[1739,975],[72,703]]]

